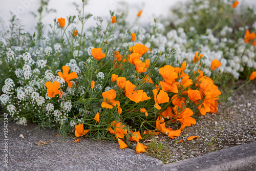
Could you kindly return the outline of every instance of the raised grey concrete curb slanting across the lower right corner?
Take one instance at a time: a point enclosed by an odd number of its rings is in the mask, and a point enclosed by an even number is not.
[[[155,167],[152,170],[256,170],[256,141],[185,159],[179,163]]]

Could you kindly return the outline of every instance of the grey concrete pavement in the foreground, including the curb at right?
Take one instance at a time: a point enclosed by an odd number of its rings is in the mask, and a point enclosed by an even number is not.
[[[1,130],[4,123],[0,122]],[[179,163],[163,165],[161,161],[132,149],[120,149],[117,143],[71,137],[59,141],[56,130],[35,131],[35,125],[8,123],[8,167],[1,150],[0,170],[256,170],[256,142],[222,149]],[[19,137],[23,134],[24,138]],[[0,132],[4,142],[4,132]],[[34,143],[50,141],[49,145]],[[2,148],[4,149],[4,145]]]

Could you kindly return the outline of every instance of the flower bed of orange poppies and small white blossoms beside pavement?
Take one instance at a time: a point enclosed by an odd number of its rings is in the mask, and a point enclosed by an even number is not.
[[[84,31],[91,17],[84,15],[84,5],[78,16],[55,19],[49,37],[42,36],[40,22],[33,35],[24,32],[15,16],[3,33],[0,99],[17,124],[33,121],[58,127],[61,135],[117,139],[120,148],[134,141],[141,153],[146,148],[139,143],[141,131],[176,139],[196,124],[195,113],[217,112],[216,82],[256,76],[256,35],[249,28],[232,31],[221,20],[211,30],[190,25],[188,30],[180,22],[165,35],[156,19],[148,29],[134,27],[139,11],[132,26],[110,12],[106,28],[95,17],[97,27]],[[76,17],[82,29],[68,32]]]

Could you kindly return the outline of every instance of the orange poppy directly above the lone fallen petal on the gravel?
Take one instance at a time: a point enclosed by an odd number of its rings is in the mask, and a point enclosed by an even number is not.
[[[178,112],[177,112],[178,106],[175,106],[173,110],[178,116]],[[191,124],[194,124],[194,125],[196,124],[196,120],[193,117],[191,117],[193,114],[194,113],[193,111],[191,111],[191,109],[185,108],[181,112],[181,114],[176,118],[181,123],[181,127],[180,127],[181,130],[183,130],[185,126],[191,126]]]

